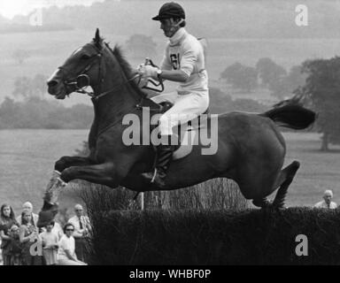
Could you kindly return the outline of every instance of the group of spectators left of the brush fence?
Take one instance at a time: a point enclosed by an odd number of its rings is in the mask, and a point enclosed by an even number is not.
[[[74,217],[64,227],[56,220],[37,227],[39,216],[32,203],[24,203],[15,218],[12,206],[0,209],[0,241],[4,265],[87,265],[91,226],[81,204],[74,206]],[[0,258],[1,262],[1,258]]]

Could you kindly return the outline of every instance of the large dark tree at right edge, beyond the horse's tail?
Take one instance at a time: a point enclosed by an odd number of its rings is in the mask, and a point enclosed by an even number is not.
[[[307,78],[296,93],[309,98],[319,113],[317,127],[322,133],[321,150],[328,151],[328,143],[340,142],[340,57],[307,60],[302,70]]]

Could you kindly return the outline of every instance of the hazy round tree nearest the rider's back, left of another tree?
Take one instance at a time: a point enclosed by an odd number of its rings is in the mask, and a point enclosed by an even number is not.
[[[220,78],[227,80],[233,88],[240,88],[248,92],[257,88],[257,77],[258,73],[255,68],[242,65],[239,62],[229,65],[222,73],[220,73]]]

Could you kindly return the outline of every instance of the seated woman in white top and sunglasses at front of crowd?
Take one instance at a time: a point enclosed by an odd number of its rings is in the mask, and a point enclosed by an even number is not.
[[[66,223],[64,226],[64,235],[59,241],[58,264],[59,265],[87,265],[78,260],[75,253],[75,244],[73,238],[74,226]]]

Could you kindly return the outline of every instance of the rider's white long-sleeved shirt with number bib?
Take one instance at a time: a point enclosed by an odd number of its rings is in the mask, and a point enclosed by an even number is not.
[[[166,45],[161,70],[181,70],[189,76],[177,88],[179,95],[206,93],[208,95],[208,74],[205,70],[205,52],[197,38],[181,27]]]

